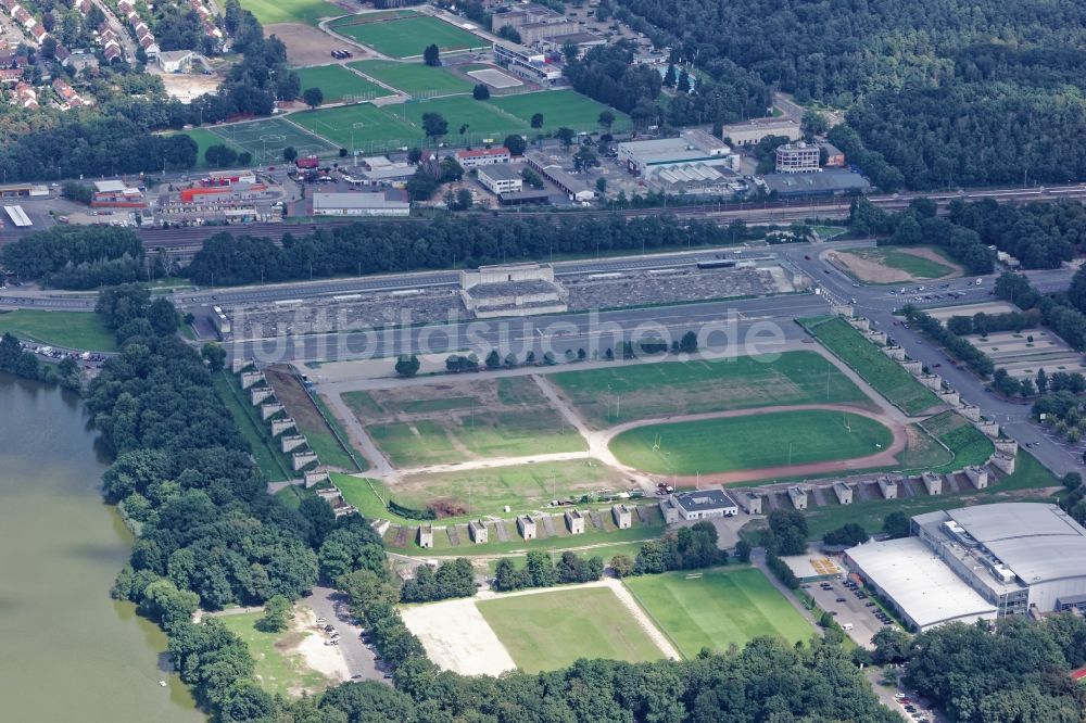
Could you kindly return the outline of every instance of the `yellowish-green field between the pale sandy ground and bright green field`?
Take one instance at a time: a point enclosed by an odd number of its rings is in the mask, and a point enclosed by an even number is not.
[[[558,670],[580,658],[642,662],[664,657],[605,587],[556,589],[476,602],[517,668]]]

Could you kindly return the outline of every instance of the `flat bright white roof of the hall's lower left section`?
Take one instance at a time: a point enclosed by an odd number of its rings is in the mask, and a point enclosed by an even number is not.
[[[996,617],[996,607],[918,537],[868,543],[849,548],[846,555],[921,629]]]

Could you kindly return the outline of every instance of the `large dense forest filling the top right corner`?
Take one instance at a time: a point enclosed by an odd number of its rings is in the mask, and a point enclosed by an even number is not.
[[[675,60],[727,61],[799,102],[849,109],[831,140],[884,190],[1086,175],[1081,4],[621,4],[618,16]]]

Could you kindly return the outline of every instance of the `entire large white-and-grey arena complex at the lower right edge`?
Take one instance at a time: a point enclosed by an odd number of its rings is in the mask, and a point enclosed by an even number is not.
[[[845,553],[845,565],[913,629],[1086,612],[1086,529],[1056,505],[978,505],[912,518],[912,534]]]

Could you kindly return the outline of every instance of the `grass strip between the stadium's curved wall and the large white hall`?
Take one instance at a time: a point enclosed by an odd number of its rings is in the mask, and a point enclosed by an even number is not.
[[[958,465],[954,466],[959,469]],[[946,491],[942,495],[918,495],[899,499],[876,499],[855,502],[851,505],[830,505],[812,507],[807,511],[810,537],[821,537],[846,522],[856,522],[870,532],[882,530],[887,515],[901,511],[909,517],[937,509],[952,509],[969,505],[985,505],[1003,502],[1055,502],[1055,497],[1038,495],[1038,487],[1059,486],[1060,481],[1027,452],[1019,451],[1014,473],[997,482],[990,482],[985,490],[969,487],[955,494]]]

